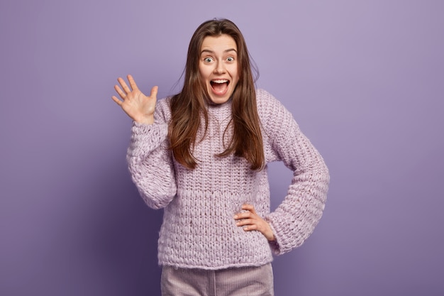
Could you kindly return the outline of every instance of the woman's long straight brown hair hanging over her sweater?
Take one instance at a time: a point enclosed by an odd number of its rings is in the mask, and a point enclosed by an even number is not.
[[[232,95],[232,119],[227,126],[228,129],[233,124],[233,136],[228,141],[226,150],[218,156],[234,153],[248,160],[251,170],[261,170],[265,163],[265,155],[250,56],[239,28],[226,19],[202,23],[189,42],[184,87],[171,100],[172,117],[168,130],[170,149],[178,163],[189,169],[196,168],[197,161],[192,151],[202,114],[205,120],[203,138],[206,135],[208,128],[206,106],[209,104],[209,94],[199,72],[201,45],[207,36],[223,34],[230,35],[238,47],[239,81]]]

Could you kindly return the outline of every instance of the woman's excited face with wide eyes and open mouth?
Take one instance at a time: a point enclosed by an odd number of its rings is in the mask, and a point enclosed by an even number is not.
[[[199,73],[211,102],[223,104],[230,99],[238,75],[238,47],[230,35],[207,36],[201,46]]]

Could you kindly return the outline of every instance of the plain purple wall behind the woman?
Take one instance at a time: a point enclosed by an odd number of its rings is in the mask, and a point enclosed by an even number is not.
[[[187,45],[231,18],[257,87],[331,170],[326,211],[274,261],[284,295],[444,295],[444,1],[0,3],[0,294],[159,295],[157,231],[126,168],[118,76],[176,92]],[[179,86],[180,86],[179,82]],[[272,206],[290,173],[270,166]],[[254,251],[254,250],[252,250]]]

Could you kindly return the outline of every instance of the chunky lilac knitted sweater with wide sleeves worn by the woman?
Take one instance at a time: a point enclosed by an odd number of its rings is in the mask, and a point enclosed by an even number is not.
[[[168,150],[170,99],[161,99],[152,125],[133,123],[128,165],[133,182],[153,209],[164,209],[158,241],[160,265],[221,269],[258,266],[272,252],[300,246],[321,219],[329,175],[323,158],[301,133],[292,114],[264,90],[257,90],[265,161],[282,160],[294,172],[282,204],[270,213],[267,168],[250,170],[245,158],[216,156],[232,135],[231,101],[210,105],[209,126],[196,141],[194,170],[184,168]],[[203,131],[198,132],[198,139]],[[276,241],[259,231],[244,231],[233,216],[252,204],[271,226]]]

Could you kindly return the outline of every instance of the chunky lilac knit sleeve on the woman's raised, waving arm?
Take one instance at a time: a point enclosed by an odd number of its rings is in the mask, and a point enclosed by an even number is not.
[[[133,182],[152,209],[166,207],[177,191],[172,153],[168,149],[168,124],[161,109],[162,106],[156,106],[154,124],[133,122],[126,156]]]

